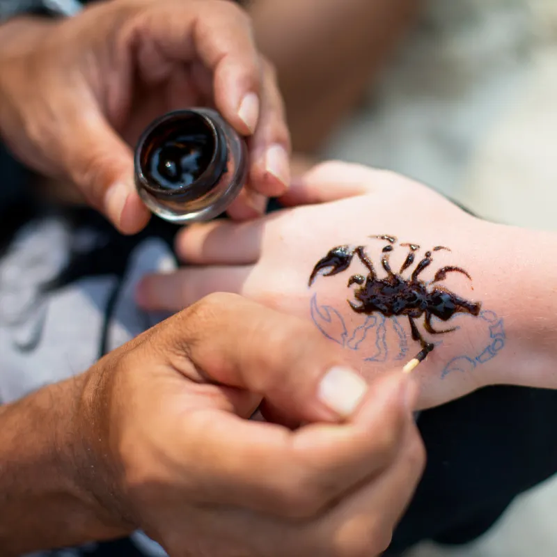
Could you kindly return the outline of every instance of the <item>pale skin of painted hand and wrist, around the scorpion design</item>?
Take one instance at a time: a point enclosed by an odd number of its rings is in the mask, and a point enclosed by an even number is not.
[[[502,318],[506,336],[495,357],[476,365],[473,359],[493,342],[490,332],[499,329],[490,329],[488,322],[471,315],[434,322],[435,329],[459,328],[433,338],[425,334],[432,341],[442,340],[442,345],[414,371],[420,383],[418,407],[439,405],[489,384],[557,388],[556,235],[476,219],[407,178],[338,162],[315,167],[292,185],[283,201],[298,206],[249,223],[219,221],[182,230],[176,251],[193,265],[173,274],[146,276],[137,292],[139,304],[173,311],[208,292],[237,292],[310,320],[311,299],[317,295],[320,306],[338,311],[353,331],[366,316],[347,304],[349,299],[355,301],[357,288],[347,288],[347,281],[352,274],[365,275],[366,269],[352,263],[347,272],[318,276],[311,288],[308,278],[329,249],[344,244],[366,246],[383,276],[380,258],[387,242],[369,236],[394,235],[400,242],[422,246],[417,252],[421,256],[434,246],[448,246],[451,251],[434,252],[434,262],[421,278],[430,281],[448,265],[466,269],[472,281],[453,273],[442,285],[467,300],[480,301],[483,310]],[[391,267],[400,269],[407,253],[407,248],[395,247]],[[408,278],[415,266],[404,276]],[[332,338],[341,336],[339,323],[324,324]],[[405,359],[395,359],[400,341],[389,323],[385,361],[365,360],[375,350],[372,335],[359,350],[346,350],[352,366],[364,377],[400,369],[420,349],[409,340]],[[423,320],[416,323],[423,332]],[[407,319],[401,319],[400,325],[409,338]],[[466,365],[448,366],[455,358]]]

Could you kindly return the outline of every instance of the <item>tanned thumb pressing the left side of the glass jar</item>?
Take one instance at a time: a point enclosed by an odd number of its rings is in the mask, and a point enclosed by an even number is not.
[[[81,108],[74,130],[63,144],[68,175],[121,233],[139,232],[150,213],[134,186],[132,150],[95,107]]]

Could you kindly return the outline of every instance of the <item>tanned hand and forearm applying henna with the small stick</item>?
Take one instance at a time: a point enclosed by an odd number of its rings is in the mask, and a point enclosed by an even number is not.
[[[304,320],[212,295],[1,407],[2,555],[137,528],[171,557],[380,554],[423,469],[416,384],[343,368],[339,411],[344,356]],[[249,421],[260,403],[268,421]]]

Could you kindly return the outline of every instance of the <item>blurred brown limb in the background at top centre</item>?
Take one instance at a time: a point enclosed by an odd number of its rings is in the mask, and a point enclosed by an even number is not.
[[[415,0],[253,0],[297,150],[318,147],[359,102],[420,8]]]

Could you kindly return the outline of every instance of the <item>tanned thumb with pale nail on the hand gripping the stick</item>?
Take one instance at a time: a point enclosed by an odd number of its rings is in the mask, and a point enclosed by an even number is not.
[[[292,421],[347,418],[368,391],[343,350],[298,317],[219,293],[173,319],[180,324],[165,329],[168,354],[187,357],[213,382],[260,395]]]

